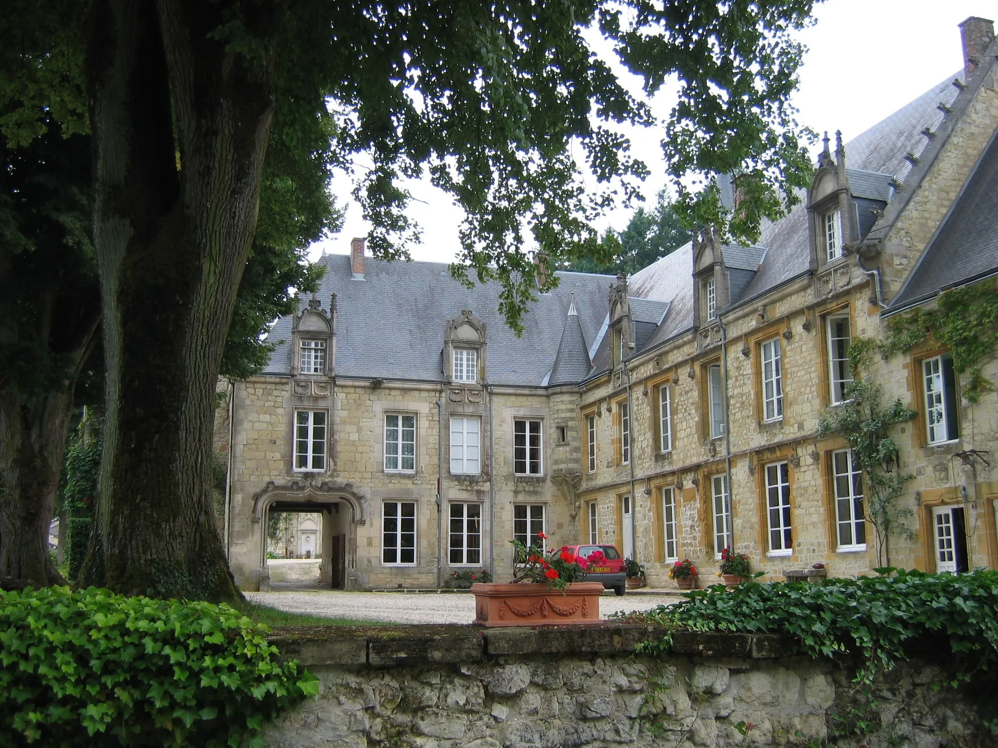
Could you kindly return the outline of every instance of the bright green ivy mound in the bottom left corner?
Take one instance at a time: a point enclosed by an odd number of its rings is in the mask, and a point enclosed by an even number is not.
[[[0,591],[0,743],[262,745],[318,691],[228,605],[90,587]]]

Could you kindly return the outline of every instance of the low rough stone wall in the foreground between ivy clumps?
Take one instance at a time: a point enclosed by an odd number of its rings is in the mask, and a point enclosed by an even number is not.
[[[873,694],[868,714],[882,729],[834,742],[833,715],[863,703],[847,664],[747,634],[676,634],[669,654],[634,654],[657,635],[629,624],[288,633],[276,637],[281,652],[321,688],[266,738],[272,748],[994,744],[975,706],[993,696],[993,681],[938,690],[939,665],[903,663]],[[752,727],[743,734],[740,723]]]

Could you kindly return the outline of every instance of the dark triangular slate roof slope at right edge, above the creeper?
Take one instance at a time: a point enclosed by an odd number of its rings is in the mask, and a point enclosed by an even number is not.
[[[998,272],[998,131],[887,314]]]

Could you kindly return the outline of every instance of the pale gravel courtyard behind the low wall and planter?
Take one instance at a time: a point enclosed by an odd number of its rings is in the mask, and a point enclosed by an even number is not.
[[[381,623],[470,623],[475,617],[475,598],[467,592],[344,592],[327,590],[277,590],[247,592],[247,598],[278,610],[327,615]],[[648,610],[678,602],[668,594],[604,594],[600,614]]]

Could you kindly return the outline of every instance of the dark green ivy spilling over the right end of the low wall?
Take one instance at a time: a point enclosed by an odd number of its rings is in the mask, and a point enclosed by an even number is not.
[[[954,658],[973,667],[985,668],[998,656],[998,570],[877,571],[896,575],[714,586],[646,615],[670,629],[789,634],[812,657],[858,653],[864,683],[904,659],[905,646],[928,633],[944,634]]]

